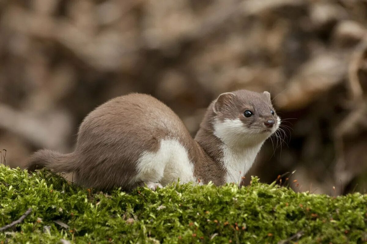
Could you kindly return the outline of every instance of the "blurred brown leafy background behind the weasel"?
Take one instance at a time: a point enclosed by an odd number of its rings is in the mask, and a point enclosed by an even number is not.
[[[195,135],[236,89],[269,91],[287,126],[244,184],[282,175],[295,191],[366,192],[367,0],[0,1],[12,167],[40,148],[72,151],[84,116],[112,97],[152,94]]]

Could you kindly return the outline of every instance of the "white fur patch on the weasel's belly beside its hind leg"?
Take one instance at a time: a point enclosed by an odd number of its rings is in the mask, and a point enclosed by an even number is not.
[[[187,183],[196,181],[193,177],[194,165],[188,153],[177,140],[160,141],[157,152],[145,151],[137,162],[138,174],[133,181],[161,183],[163,186],[171,182]]]

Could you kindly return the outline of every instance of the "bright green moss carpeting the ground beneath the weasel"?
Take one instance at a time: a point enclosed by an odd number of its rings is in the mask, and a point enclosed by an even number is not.
[[[298,243],[367,241],[367,195],[295,193],[257,178],[242,188],[174,184],[103,194],[1,165],[0,227],[29,207],[21,224],[0,233],[2,243],[277,243],[301,231]]]

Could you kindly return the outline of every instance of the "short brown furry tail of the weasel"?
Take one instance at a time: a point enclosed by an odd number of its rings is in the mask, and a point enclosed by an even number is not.
[[[36,151],[29,158],[27,169],[34,171],[36,169],[47,168],[58,173],[68,173],[77,170],[74,153],[61,154],[56,151],[43,149]]]

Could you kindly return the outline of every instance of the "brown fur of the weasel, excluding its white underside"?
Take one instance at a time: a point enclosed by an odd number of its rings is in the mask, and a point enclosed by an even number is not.
[[[84,187],[131,189],[136,186],[130,180],[137,174],[136,164],[142,152],[156,152],[160,140],[170,138],[188,151],[194,176],[204,183],[222,185],[226,169],[222,142],[213,133],[214,118],[241,117],[243,110],[250,108],[261,111],[258,117],[244,121],[255,126],[262,123],[260,119],[269,107],[272,105],[267,94],[246,90],[223,94],[208,107],[194,140],[181,119],[156,98],[145,94],[117,97],[86,116],[73,153],[37,151],[30,157],[28,169],[46,167],[55,172],[75,172],[77,183]]]

